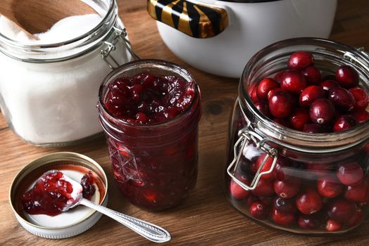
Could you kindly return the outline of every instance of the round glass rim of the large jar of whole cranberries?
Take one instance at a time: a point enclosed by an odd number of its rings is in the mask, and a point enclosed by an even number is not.
[[[329,39],[320,39],[320,38],[311,38],[311,37],[300,37],[294,39],[285,39],[282,41],[278,41],[274,44],[270,44],[265,48],[258,51],[246,64],[244,71],[242,73],[242,77],[239,82],[239,95],[240,95],[240,108],[242,109],[242,113],[244,108],[248,108],[251,110],[251,113],[255,115],[256,119],[258,119],[258,127],[263,127],[263,129],[268,129],[268,138],[273,138],[280,145],[288,145],[292,147],[294,143],[296,143],[296,139],[299,140],[299,145],[301,146],[309,146],[309,147],[325,147],[326,143],[332,143],[328,147],[325,152],[334,152],[339,151],[345,148],[351,148],[354,145],[359,145],[365,141],[369,140],[369,120],[358,124],[357,127],[353,129],[349,129],[347,131],[342,132],[332,132],[332,133],[323,133],[323,134],[311,134],[304,131],[297,131],[294,129],[290,129],[288,127],[283,127],[280,124],[273,122],[273,120],[265,117],[254,105],[251,101],[251,96],[244,84],[244,81],[247,80],[249,73],[251,72],[253,65],[255,65],[258,60],[261,58],[268,56],[271,51],[276,51],[278,48],[288,47],[288,46],[298,46],[298,45],[322,45],[322,46],[332,46],[337,48],[337,51],[342,53],[342,59],[346,56],[347,53],[353,55],[349,56],[350,58],[357,59],[356,62],[360,62],[363,64],[369,65],[369,56],[367,53],[361,51],[360,49],[353,48],[351,46],[346,46],[345,44],[341,44],[336,41],[332,41]],[[365,67],[365,71],[369,76],[369,67]],[[365,82],[367,86],[369,86],[369,81]],[[242,100],[243,99],[243,100]],[[366,134],[365,134],[366,133]],[[265,134],[265,132],[261,132],[261,134]],[[362,137],[360,137],[362,136]],[[358,138],[356,141],[352,141],[354,138]],[[291,141],[290,141],[291,140]],[[293,141],[295,140],[295,141]],[[323,145],[324,143],[324,145]],[[320,145],[319,145],[320,144]],[[342,147],[344,146],[344,148]],[[309,148],[301,148],[301,150],[306,150],[306,152],[311,152]],[[316,150],[315,150],[316,151]]]

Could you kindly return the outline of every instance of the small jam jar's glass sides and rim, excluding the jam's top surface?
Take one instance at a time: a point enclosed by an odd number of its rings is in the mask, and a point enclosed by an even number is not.
[[[142,72],[175,75],[185,82],[194,78],[182,67],[162,60],[138,60],[111,72],[99,91],[99,119],[106,132],[115,181],[134,205],[152,210],[180,203],[194,188],[197,177],[200,92],[189,108],[168,122],[132,124],[113,117],[104,105],[108,85],[118,77]]]

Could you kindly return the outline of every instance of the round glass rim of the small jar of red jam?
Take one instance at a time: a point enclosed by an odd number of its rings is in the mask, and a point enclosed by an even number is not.
[[[170,119],[166,122],[158,122],[155,124],[134,124],[132,122],[126,122],[123,119],[118,119],[117,117],[111,115],[111,113],[106,109],[106,106],[104,105],[104,87],[106,86],[106,84],[109,84],[110,82],[112,82],[112,79],[115,75],[118,75],[120,73],[122,73],[123,70],[128,70],[130,67],[135,67],[136,65],[149,65],[149,64],[155,64],[155,65],[161,65],[162,67],[171,67],[174,68],[175,70],[177,70],[178,72],[181,73],[182,78],[186,79],[187,82],[189,82],[189,80],[191,79],[192,81],[194,81],[195,84],[195,96],[194,99],[192,100],[192,103],[188,106],[188,108],[186,110],[184,110],[184,112],[181,112],[180,115],[177,115],[176,117],[174,117],[173,119]],[[194,79],[194,76],[189,73],[187,70],[185,70],[183,67],[180,67],[180,65],[177,65],[176,63],[172,63],[170,61],[167,60],[159,60],[159,59],[141,59],[141,60],[133,60],[130,63],[125,63],[123,65],[120,65],[119,67],[115,68],[115,70],[111,71],[103,80],[103,82],[101,83],[101,86],[99,88],[99,102],[98,102],[98,108],[99,110],[101,110],[105,115],[108,115],[108,117],[111,117],[111,119],[114,119],[115,122],[118,122],[118,124],[122,124],[125,125],[127,127],[135,127],[137,129],[151,129],[153,127],[165,127],[165,125],[168,124],[177,124],[178,122],[180,122],[180,120],[182,119],[182,117],[184,117],[185,115],[187,115],[187,113],[189,113],[192,110],[192,107],[194,106],[194,103],[196,103],[196,101],[199,101],[199,97],[200,97],[200,89],[198,84],[196,83],[196,80]],[[118,129],[115,129],[116,131],[119,131]]]

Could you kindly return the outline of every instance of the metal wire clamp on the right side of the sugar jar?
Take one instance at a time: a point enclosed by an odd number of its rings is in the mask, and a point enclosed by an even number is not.
[[[119,67],[119,63],[111,56],[111,51],[115,51],[118,41],[122,41],[125,48],[130,52],[135,60],[139,60],[139,56],[133,51],[132,44],[127,39],[127,31],[118,27],[113,27],[113,37],[110,41],[103,41],[103,48],[101,48],[100,55],[105,63],[113,70]]]

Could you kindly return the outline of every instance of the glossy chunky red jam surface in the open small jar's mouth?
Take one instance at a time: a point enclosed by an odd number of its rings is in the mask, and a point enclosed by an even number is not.
[[[120,77],[109,84],[105,106],[126,122],[156,124],[167,122],[191,105],[194,82],[175,76],[142,73],[135,77]]]

